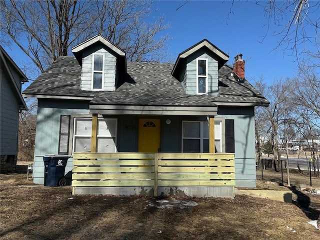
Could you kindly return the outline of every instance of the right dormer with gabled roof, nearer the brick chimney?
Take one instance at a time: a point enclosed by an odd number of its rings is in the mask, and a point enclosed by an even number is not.
[[[171,75],[178,79],[187,94],[218,94],[218,69],[229,56],[206,39],[177,57]]]

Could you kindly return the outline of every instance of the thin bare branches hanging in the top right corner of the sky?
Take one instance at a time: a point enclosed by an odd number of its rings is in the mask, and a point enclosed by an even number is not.
[[[267,17],[267,34],[278,36],[275,48],[290,50],[300,66],[313,58],[313,65],[319,66],[320,51],[318,31],[320,30],[320,2],[313,0],[257,1]],[[276,31],[270,32],[270,25]],[[264,38],[263,38],[264,39]],[[263,41],[262,39],[262,41]],[[313,48],[316,46],[316,48]],[[313,48],[313,49],[312,49]],[[314,50],[315,49],[315,50]],[[315,60],[315,61],[314,61]]]

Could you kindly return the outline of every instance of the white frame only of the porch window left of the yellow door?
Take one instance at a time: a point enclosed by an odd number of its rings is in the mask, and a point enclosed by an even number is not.
[[[91,122],[92,122],[92,116],[88,116],[88,117],[85,117],[85,116],[74,116],[73,119],[72,119],[72,154],[74,152],[74,148],[75,148],[75,138],[76,137],[87,137],[87,138],[91,138],[91,133],[90,134],[87,134],[87,135],[80,135],[80,134],[75,134],[75,127],[76,127],[76,120],[77,119],[90,119]],[[112,120],[115,120],[115,135],[101,135],[101,134],[97,134],[96,136],[96,140],[98,140],[99,138],[114,138],[114,152],[117,152],[117,148],[116,148],[116,138],[117,138],[117,118],[103,118],[103,117],[98,117],[98,121],[99,120],[106,120],[106,119],[112,119]],[[99,125],[99,124],[97,124]],[[111,133],[111,132],[110,132]],[[90,149],[89,149],[90,150]]]

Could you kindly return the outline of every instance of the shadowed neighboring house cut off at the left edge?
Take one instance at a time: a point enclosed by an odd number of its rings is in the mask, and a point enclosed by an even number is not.
[[[27,110],[21,95],[21,84],[28,80],[2,46],[0,50],[0,170],[6,172],[14,171],[16,168],[19,112]]]

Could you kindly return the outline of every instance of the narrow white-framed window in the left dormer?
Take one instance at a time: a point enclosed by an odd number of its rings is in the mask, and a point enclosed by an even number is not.
[[[92,90],[103,89],[103,54],[92,55]]]

